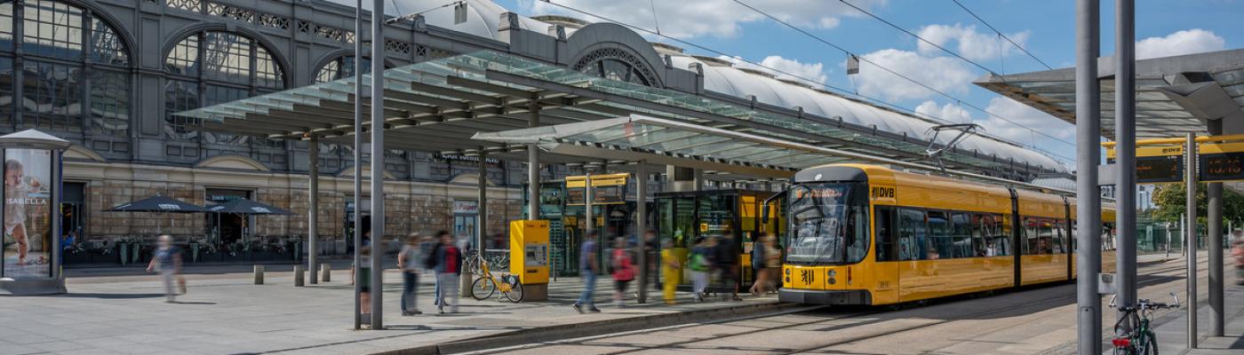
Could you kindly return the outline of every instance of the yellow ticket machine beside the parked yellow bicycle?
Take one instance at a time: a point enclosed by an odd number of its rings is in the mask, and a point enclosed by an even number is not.
[[[549,299],[549,221],[510,221],[510,273],[522,283],[522,300]]]

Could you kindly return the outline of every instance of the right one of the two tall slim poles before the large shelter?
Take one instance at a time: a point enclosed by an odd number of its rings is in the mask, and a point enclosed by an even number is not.
[[[384,0],[372,1],[372,330],[384,329]]]

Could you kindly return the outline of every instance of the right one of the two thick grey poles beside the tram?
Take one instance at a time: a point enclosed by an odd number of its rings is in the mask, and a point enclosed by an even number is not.
[[[1115,282],[1122,309],[1136,304],[1136,0],[1115,0]]]

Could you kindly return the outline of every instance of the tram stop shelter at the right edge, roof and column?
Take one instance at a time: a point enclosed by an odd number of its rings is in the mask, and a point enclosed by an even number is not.
[[[1097,58],[1101,88],[1101,137],[1115,139],[1115,57]],[[1244,134],[1244,50],[1140,60],[1135,62],[1136,138],[1184,138],[1195,135]],[[1076,68],[986,76],[978,86],[1076,123]],[[1198,160],[1198,165],[1205,164]],[[1182,180],[1182,179],[1179,179]],[[1209,307],[1210,336],[1223,336],[1223,238],[1222,189],[1244,192],[1244,182],[1210,182],[1209,189]],[[1217,194],[1217,195],[1215,195]],[[1189,253],[1192,254],[1192,253]],[[1192,312],[1195,300],[1189,299]],[[1192,317],[1195,321],[1195,317]],[[1195,330],[1194,328],[1192,329]],[[1239,334],[1235,334],[1239,336]],[[1194,343],[1193,343],[1194,344]]]

